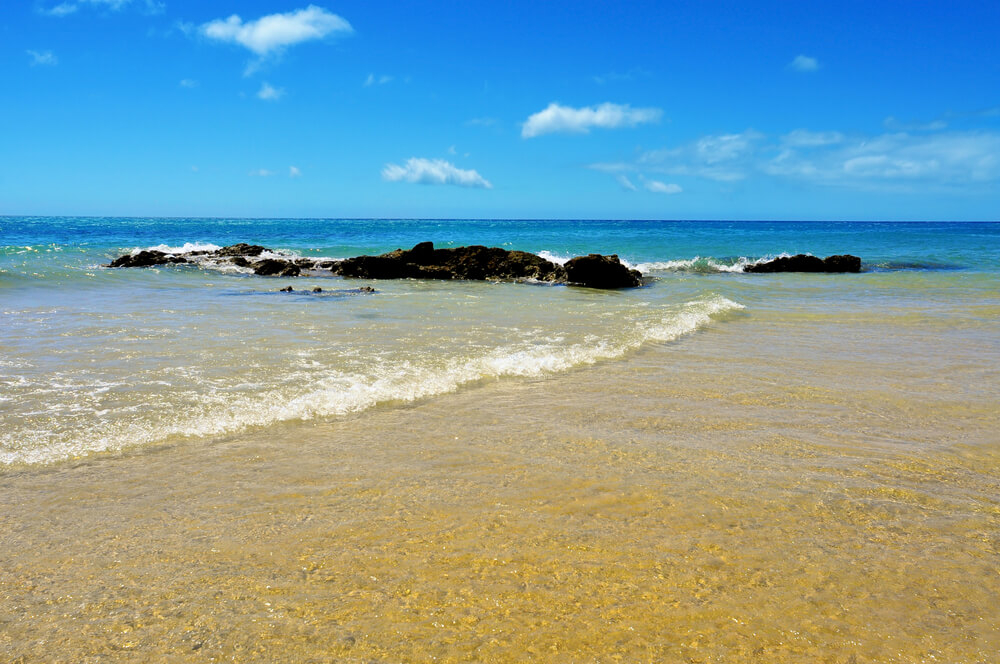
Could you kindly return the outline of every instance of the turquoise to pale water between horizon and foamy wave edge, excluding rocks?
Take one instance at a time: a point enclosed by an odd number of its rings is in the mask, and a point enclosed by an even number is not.
[[[122,253],[236,242],[343,258],[484,244],[554,260],[616,253],[644,288],[109,270]],[[860,275],[751,275],[782,254]],[[995,375],[1000,224],[0,218],[0,463],[51,463],[336,419],[483,381],[620,361],[743,316],[795,334],[825,303],[969,330]],[[373,285],[378,293],[353,291]],[[806,312],[804,319],[796,315]],[[794,319],[794,320],[793,320]],[[976,336],[978,335],[978,336]]]

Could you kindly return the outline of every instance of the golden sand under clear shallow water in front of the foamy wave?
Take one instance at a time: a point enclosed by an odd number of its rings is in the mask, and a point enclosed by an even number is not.
[[[996,349],[890,331],[8,472],[0,659],[997,661]]]

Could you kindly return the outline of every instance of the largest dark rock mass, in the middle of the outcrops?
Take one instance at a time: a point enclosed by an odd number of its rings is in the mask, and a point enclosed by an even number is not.
[[[641,275],[622,265],[617,256],[581,256],[564,267],[526,251],[480,245],[435,249],[431,242],[380,256],[348,258],[335,263],[331,272],[362,279],[534,280],[591,288],[630,288],[641,283]]]

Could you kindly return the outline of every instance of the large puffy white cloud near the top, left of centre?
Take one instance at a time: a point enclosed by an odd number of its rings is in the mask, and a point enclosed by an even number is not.
[[[244,22],[233,14],[226,19],[209,21],[199,31],[209,39],[239,44],[265,57],[280,54],[295,44],[334,34],[349,34],[354,29],[340,16],[309,5],[284,14],[262,16],[256,21]]]

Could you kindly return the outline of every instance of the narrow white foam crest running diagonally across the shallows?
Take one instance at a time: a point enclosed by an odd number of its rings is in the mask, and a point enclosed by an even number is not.
[[[62,436],[44,429],[3,431],[0,464],[45,464],[152,445],[178,436],[218,436],[284,421],[338,417],[379,404],[413,402],[454,392],[482,380],[557,374],[620,358],[650,342],[674,341],[709,325],[721,315],[743,308],[737,302],[714,296],[672,308],[658,320],[637,323],[630,330],[606,338],[591,337],[568,345],[525,341],[479,356],[454,357],[437,367],[423,362],[383,361],[373,363],[373,370],[365,375],[330,371],[319,381],[313,377],[312,389],[291,398],[277,387],[231,398],[209,392],[202,395],[200,405],[189,408],[185,416],[175,421],[101,417],[73,431],[63,431]]]

